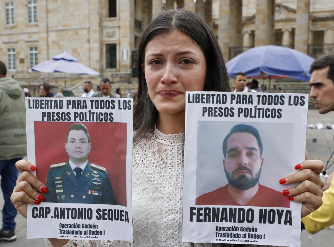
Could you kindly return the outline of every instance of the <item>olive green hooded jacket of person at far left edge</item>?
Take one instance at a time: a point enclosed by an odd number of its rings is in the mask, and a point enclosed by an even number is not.
[[[26,155],[25,96],[13,78],[0,78],[0,160]]]

